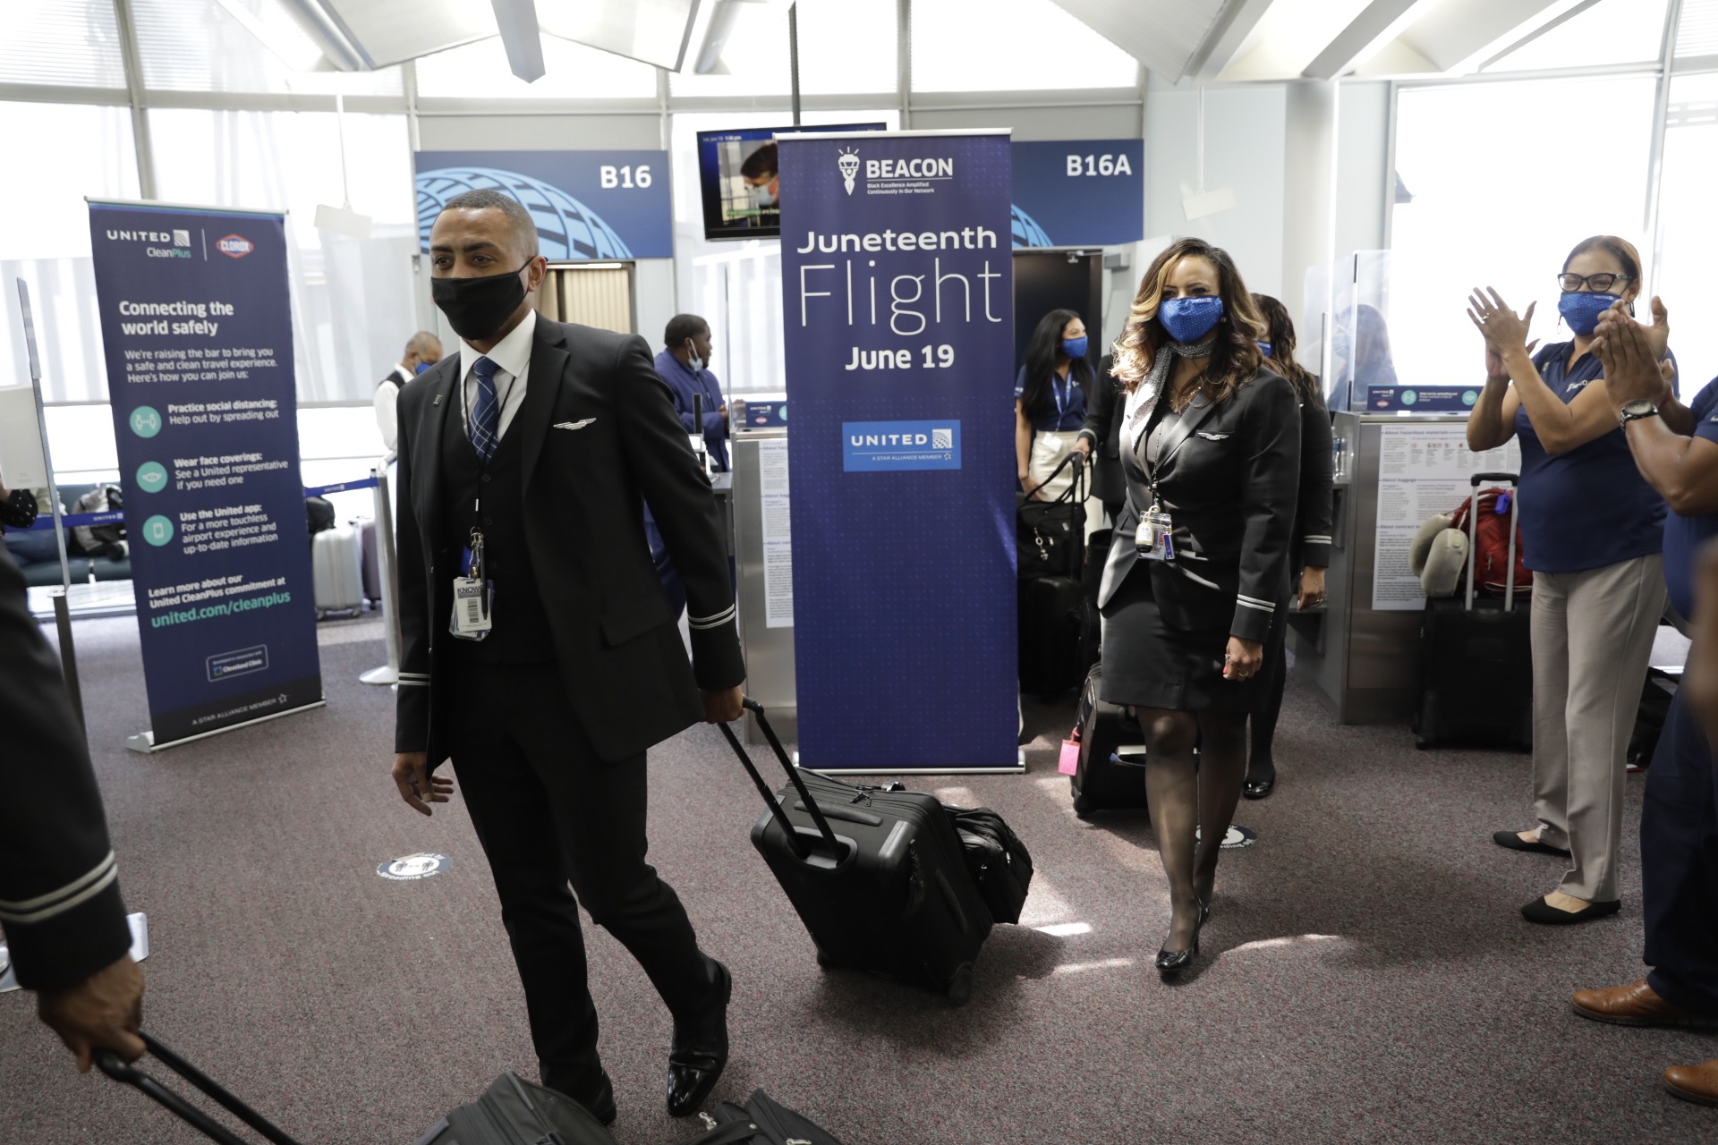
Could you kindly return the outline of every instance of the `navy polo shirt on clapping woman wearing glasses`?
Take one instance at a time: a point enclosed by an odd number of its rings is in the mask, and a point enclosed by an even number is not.
[[[1605,378],[1596,354],[1569,367],[1574,345],[1558,342],[1532,357],[1544,385],[1563,403]],[[1515,436],[1520,439],[1520,544],[1527,568],[1584,572],[1663,549],[1665,500],[1646,484],[1620,426],[1553,457],[1532,431],[1524,405],[1515,414]]]

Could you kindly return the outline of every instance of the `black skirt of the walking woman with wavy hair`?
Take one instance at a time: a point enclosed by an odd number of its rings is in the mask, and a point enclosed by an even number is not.
[[[1151,568],[1136,561],[1103,606],[1103,700],[1182,712],[1251,712],[1259,676],[1225,680],[1228,628],[1172,628],[1151,596]]]

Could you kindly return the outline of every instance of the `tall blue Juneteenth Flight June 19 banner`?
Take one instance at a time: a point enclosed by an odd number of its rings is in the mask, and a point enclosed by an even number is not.
[[[778,144],[801,762],[1014,771],[1008,134]]]

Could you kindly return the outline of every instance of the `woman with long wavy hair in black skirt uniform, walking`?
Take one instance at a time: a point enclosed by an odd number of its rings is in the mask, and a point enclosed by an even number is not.
[[[1199,951],[1288,566],[1301,417],[1294,386],[1261,366],[1263,338],[1228,254],[1182,239],[1146,271],[1115,343],[1127,501],[1098,589],[1103,699],[1136,709],[1149,747],[1165,975]]]

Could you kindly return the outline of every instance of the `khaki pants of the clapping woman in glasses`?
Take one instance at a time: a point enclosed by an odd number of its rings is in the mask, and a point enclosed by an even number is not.
[[[1658,553],[1532,575],[1532,798],[1539,841],[1574,867],[1558,888],[1617,900],[1625,752],[1665,611]]]

